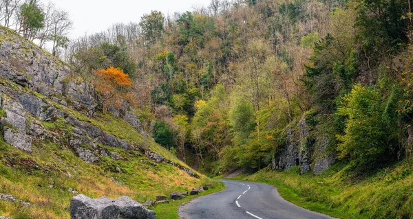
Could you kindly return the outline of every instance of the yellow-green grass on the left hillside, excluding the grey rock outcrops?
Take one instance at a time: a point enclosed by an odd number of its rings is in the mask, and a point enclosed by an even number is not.
[[[142,137],[122,119],[111,115],[89,119],[81,113],[65,109],[78,119],[94,124],[112,135],[138,146],[148,147],[184,165],[167,150]],[[210,182],[205,176],[200,179],[193,178],[172,165],[155,164],[139,152],[126,152],[120,148],[103,146],[119,154],[124,160],[102,157],[98,163],[85,163],[66,146],[65,136],[70,134],[72,129],[70,124],[63,119],[43,124],[61,139],[57,143],[34,141],[32,154],[9,146],[0,137],[0,193],[12,194],[34,204],[32,207],[22,207],[16,203],[0,201],[0,216],[69,218],[68,207],[74,196],[69,191],[70,188],[93,198],[131,196],[143,203],[149,198],[154,199],[156,195],[167,196],[170,192],[185,191]],[[116,172],[116,168],[123,172]]]

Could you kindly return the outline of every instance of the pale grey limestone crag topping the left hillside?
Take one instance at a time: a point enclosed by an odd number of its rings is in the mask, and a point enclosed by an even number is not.
[[[88,84],[64,62],[7,28],[0,28],[0,38],[7,38],[0,43],[0,76],[46,97],[68,97],[79,108],[94,104]]]

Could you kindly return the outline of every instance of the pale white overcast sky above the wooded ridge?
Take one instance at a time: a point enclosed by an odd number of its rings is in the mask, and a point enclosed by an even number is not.
[[[165,15],[186,12],[193,5],[209,5],[211,0],[44,0],[53,2],[56,8],[69,12],[74,27],[72,38],[85,33],[94,34],[106,30],[114,23],[138,22],[143,14],[158,10]]]

